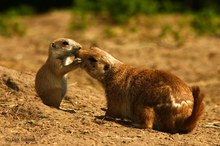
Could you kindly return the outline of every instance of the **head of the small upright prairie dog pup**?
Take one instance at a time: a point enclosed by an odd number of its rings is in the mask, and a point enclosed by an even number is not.
[[[72,39],[59,38],[50,43],[49,57],[63,60],[73,56],[81,48],[82,46]]]

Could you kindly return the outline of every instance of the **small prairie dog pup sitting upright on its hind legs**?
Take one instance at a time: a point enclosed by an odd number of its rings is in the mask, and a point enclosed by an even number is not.
[[[50,43],[45,64],[35,79],[35,89],[44,104],[59,108],[67,91],[67,73],[79,67],[81,61],[69,57],[81,49],[81,45],[68,38],[59,38]]]

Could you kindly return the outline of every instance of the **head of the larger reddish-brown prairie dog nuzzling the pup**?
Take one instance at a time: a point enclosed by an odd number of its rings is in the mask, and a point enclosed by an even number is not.
[[[99,81],[102,81],[108,71],[120,62],[98,47],[81,49],[76,53],[76,57],[82,60],[81,68]]]

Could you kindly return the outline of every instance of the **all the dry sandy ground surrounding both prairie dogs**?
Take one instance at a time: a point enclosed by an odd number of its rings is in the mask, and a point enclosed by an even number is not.
[[[24,36],[0,36],[0,145],[220,145],[220,40],[199,37],[180,29],[183,43],[172,38],[152,39],[162,23],[179,16],[130,22],[137,31],[96,22],[84,31],[69,31],[69,12],[18,18]],[[154,21],[158,22],[155,23]],[[151,23],[150,23],[151,22]],[[111,30],[111,31],[109,31]],[[50,41],[70,37],[83,46],[97,44],[123,62],[168,70],[205,93],[205,113],[189,134],[168,134],[131,127],[129,122],[102,119],[105,96],[84,71],[69,73],[69,89],[62,107],[45,106],[34,90],[36,71],[47,57]]]

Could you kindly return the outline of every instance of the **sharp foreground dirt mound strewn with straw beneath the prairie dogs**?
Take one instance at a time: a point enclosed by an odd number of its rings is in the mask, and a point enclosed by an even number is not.
[[[132,128],[129,122],[103,120],[104,95],[91,87],[81,89],[77,84],[71,85],[62,103],[66,111],[45,106],[34,91],[32,73],[0,67],[0,94],[1,145],[219,144],[219,130],[205,128],[207,120],[186,135],[141,130]],[[217,105],[208,106],[205,116],[220,114],[219,110]]]

